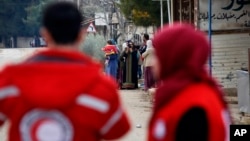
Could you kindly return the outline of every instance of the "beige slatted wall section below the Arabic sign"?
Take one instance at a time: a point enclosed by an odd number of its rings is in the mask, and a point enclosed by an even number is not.
[[[212,73],[224,88],[237,88],[236,71],[248,69],[250,35],[221,34],[212,37]]]

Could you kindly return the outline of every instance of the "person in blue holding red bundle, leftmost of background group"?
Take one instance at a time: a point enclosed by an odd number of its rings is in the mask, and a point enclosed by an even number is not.
[[[105,72],[111,76],[114,80],[117,78],[118,69],[118,50],[111,40],[107,41],[107,45],[102,48],[105,52]]]

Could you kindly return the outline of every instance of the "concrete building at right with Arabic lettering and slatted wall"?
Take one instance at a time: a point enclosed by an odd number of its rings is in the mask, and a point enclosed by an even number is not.
[[[212,0],[212,74],[224,88],[236,88],[236,70],[248,70],[250,5]],[[208,32],[208,0],[174,1],[174,20]]]

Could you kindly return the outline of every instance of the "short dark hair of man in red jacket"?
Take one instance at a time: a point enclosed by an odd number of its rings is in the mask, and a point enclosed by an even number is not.
[[[82,21],[82,14],[72,2],[53,2],[43,11],[42,25],[58,44],[74,43]]]

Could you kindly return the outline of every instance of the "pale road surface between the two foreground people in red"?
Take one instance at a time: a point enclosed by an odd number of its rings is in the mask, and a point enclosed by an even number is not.
[[[149,96],[141,90],[122,90],[120,99],[130,117],[131,130],[119,141],[145,141],[152,105]],[[141,128],[136,128],[137,124]],[[7,129],[8,123],[0,129],[0,141],[7,141]]]

